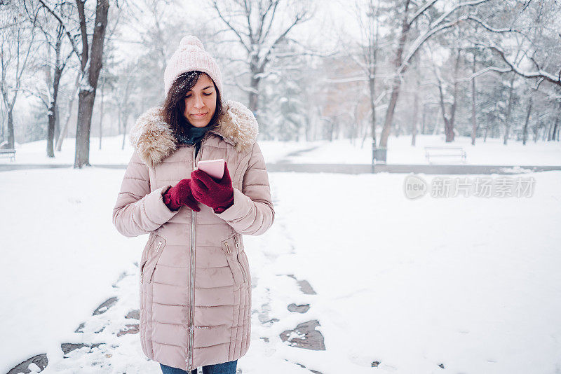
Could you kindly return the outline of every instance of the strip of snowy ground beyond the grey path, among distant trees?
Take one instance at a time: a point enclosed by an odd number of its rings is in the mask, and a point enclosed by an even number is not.
[[[107,137],[90,140],[90,164],[126,164],[130,159],[132,147],[125,142],[121,150],[123,137]],[[411,137],[400,136],[388,139],[388,164],[426,164],[424,146],[461,146],[466,151],[468,165],[561,165],[561,142],[559,141],[528,141],[525,146],[520,141],[510,140],[503,145],[502,139],[491,139],[483,142],[477,139],[475,146],[471,138],[456,137],[455,141],[446,144],[443,135],[417,135],[416,146],[411,146]],[[46,157],[46,141],[32,141],[16,145],[15,163],[74,164],[74,139],[66,139],[62,151],[55,152],[55,158]],[[334,164],[370,164],[372,162],[372,141],[366,139],[349,139],[330,141],[259,141],[266,162],[277,162],[285,159],[288,153],[307,150],[295,157],[286,158],[294,163],[334,163]],[[457,164],[459,158],[434,158],[435,163]],[[11,162],[1,158],[0,163]],[[13,161],[12,161],[13,162]]]

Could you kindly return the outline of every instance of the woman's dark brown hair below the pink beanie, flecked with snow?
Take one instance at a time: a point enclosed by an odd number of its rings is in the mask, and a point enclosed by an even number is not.
[[[165,97],[163,102],[163,117],[165,122],[169,123],[172,127],[174,134],[186,134],[185,130],[191,126],[191,123],[185,118],[185,95],[193,89],[196,85],[198,78],[202,75],[208,76],[203,71],[191,70],[186,71],[178,76],[168,91],[168,96]],[[208,76],[210,78],[210,76]],[[215,86],[216,91],[216,109],[215,114],[210,119],[208,127],[215,127],[218,119],[222,115],[222,97],[219,90],[216,88],[215,81],[210,78],[212,84]]]

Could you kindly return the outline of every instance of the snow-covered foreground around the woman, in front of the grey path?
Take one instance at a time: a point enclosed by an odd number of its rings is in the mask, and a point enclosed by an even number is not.
[[[121,156],[126,162],[130,153],[114,153]],[[91,159],[109,160],[111,153]],[[137,334],[116,336],[136,322],[124,316],[138,307],[134,263],[147,240],[123,237],[111,223],[123,172],[0,173],[0,371],[47,353],[44,373],[160,372],[144,358]],[[270,173],[276,221],[264,235],[244,237],[255,314],[252,345],[238,368],[559,373],[561,172],[529,176],[529,198],[410,200],[404,174]],[[317,294],[302,293],[288,275],[306,279]],[[92,317],[112,296],[118,303]],[[290,303],[310,309],[290,312]],[[280,340],[313,319],[325,351]],[[82,322],[84,332],[74,333]],[[107,345],[62,359],[63,342]]]

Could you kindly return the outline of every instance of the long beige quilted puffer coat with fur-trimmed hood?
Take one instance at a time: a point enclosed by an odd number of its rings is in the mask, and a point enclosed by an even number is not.
[[[158,108],[131,130],[135,147],[113,209],[119,233],[149,233],[140,261],[140,341],[149,359],[192,370],[233,361],[250,345],[251,277],[242,235],[261,235],[274,221],[257,121],[228,101],[195,160],[176,144]],[[220,214],[201,203],[170,211],[162,193],[189,178],[200,160],[224,158],[234,205]]]

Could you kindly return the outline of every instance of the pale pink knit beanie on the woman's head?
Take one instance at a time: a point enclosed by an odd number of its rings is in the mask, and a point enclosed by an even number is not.
[[[224,97],[220,69],[215,60],[206,53],[203,42],[193,35],[187,35],[181,39],[179,48],[173,53],[165,67],[163,72],[165,95],[168,95],[171,85],[180,74],[191,70],[203,71],[208,74],[215,82],[220,95]]]

